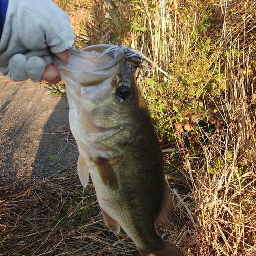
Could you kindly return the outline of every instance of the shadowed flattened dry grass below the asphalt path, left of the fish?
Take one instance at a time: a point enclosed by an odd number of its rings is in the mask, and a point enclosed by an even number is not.
[[[124,234],[106,228],[92,184],[75,174],[47,181],[0,177],[0,255],[138,255]]]

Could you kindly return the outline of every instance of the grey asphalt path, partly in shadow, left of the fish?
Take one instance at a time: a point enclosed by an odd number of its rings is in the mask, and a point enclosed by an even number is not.
[[[76,165],[78,151],[68,129],[68,102],[31,81],[0,77],[0,173],[42,181]]]

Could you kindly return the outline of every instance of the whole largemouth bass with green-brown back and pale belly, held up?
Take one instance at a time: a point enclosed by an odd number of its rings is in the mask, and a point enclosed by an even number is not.
[[[142,256],[182,256],[156,230],[156,220],[170,225],[174,207],[150,114],[124,48],[109,47],[73,50],[68,65],[54,58],[66,85],[79,178],[86,187],[90,173],[106,225],[116,234],[121,226]]]

